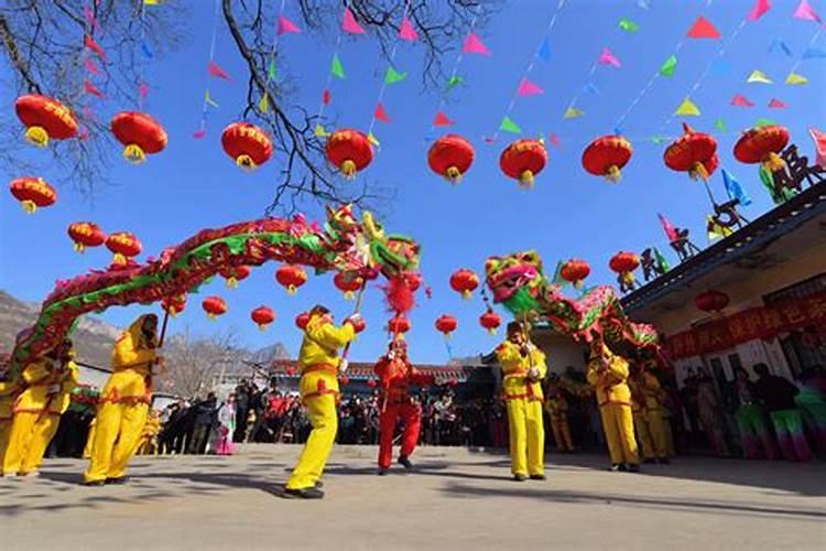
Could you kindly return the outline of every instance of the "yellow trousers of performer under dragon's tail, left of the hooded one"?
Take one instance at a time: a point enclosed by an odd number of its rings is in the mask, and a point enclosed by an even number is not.
[[[61,415],[56,413],[15,413],[3,456],[3,473],[28,475],[37,471],[59,423]]]

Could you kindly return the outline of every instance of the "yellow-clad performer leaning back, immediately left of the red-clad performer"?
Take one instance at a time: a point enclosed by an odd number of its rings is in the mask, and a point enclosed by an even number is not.
[[[338,350],[356,336],[355,326],[360,316],[355,314],[336,327],[329,310],[317,305],[309,311],[309,322],[304,329],[304,341],[298,354],[301,382],[298,391],[307,408],[313,426],[307,443],[298,457],[292,476],[286,483],[287,496],[319,499],[318,479],[333,451],[338,431],[338,370],[341,365]]]

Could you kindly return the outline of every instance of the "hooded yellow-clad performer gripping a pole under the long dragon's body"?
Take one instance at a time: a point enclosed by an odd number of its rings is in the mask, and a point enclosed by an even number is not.
[[[135,320],[112,352],[112,375],[100,393],[91,461],[84,484],[123,484],[152,402],[152,375],[160,372],[157,316]]]

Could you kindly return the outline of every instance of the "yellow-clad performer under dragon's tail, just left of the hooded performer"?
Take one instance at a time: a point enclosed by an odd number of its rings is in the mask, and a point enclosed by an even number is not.
[[[3,476],[37,476],[43,454],[77,385],[72,341],[64,341],[23,369],[25,390],[14,400]]]

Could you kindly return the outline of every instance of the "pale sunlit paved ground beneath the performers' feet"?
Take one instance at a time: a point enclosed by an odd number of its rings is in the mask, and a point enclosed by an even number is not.
[[[374,474],[338,447],[323,501],[279,498],[296,446],[145,457],[129,486],[77,486],[85,463],[0,480],[0,549],[826,549],[826,464],[683,458],[609,473],[550,456],[546,482],[503,455],[431,447],[417,473]]]

